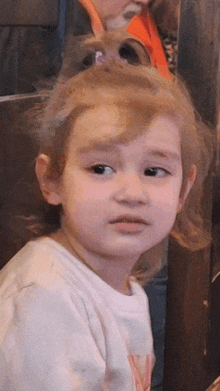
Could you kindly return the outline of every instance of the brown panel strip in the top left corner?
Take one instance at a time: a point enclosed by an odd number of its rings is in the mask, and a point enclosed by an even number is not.
[[[59,0],[1,0],[0,25],[57,25]]]

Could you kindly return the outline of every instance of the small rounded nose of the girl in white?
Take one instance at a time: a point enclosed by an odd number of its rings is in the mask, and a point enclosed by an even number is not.
[[[119,179],[115,200],[131,205],[146,204],[148,202],[148,195],[138,175],[128,174]]]

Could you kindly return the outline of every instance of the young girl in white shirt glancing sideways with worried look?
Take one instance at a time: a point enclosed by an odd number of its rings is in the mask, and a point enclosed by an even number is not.
[[[209,242],[194,110],[156,70],[110,63],[56,86],[39,137],[46,202],[1,273],[0,388],[150,390],[140,284],[154,265],[142,255],[170,233],[191,249]]]

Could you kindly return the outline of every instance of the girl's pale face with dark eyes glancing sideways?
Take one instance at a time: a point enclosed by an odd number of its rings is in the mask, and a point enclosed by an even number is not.
[[[76,120],[59,184],[49,203],[63,206],[61,230],[78,254],[135,257],[168,235],[180,207],[180,134],[158,117],[132,142],[119,143],[126,118],[90,109]]]

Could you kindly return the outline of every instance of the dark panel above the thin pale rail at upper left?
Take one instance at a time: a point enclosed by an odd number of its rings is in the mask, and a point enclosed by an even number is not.
[[[34,92],[60,66],[58,27],[0,27],[0,95]]]

